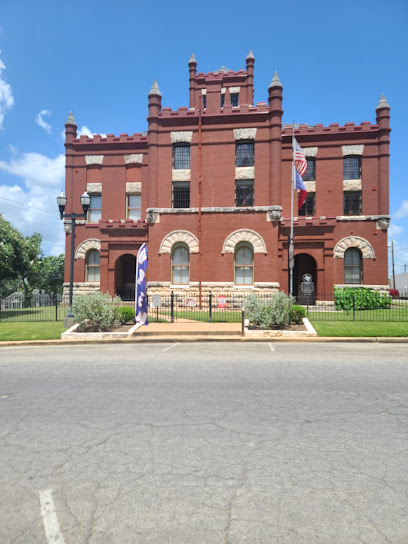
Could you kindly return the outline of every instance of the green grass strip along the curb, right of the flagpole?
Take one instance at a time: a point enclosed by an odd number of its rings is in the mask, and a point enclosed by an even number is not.
[[[408,322],[313,321],[318,336],[408,336]]]

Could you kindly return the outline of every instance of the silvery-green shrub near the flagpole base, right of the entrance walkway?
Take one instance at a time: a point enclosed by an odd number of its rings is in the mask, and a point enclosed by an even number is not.
[[[293,301],[294,298],[283,291],[267,300],[250,295],[246,303],[246,315],[254,328],[282,329],[290,323]]]

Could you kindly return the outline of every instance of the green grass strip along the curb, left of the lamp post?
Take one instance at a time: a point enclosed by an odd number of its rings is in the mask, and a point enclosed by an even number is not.
[[[65,331],[61,321],[0,323],[0,342],[6,340],[54,340]]]

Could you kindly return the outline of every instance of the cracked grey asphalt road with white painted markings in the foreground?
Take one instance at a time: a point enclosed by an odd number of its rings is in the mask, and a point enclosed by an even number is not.
[[[408,542],[406,344],[0,349],[0,543]]]

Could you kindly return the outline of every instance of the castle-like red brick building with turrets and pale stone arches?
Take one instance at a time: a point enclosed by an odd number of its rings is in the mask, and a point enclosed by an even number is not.
[[[91,195],[76,229],[74,292],[128,298],[143,242],[150,292],[288,292],[293,127],[282,125],[276,73],[267,102],[253,104],[254,63],[250,51],[246,70],[203,74],[192,56],[189,107],[162,107],[154,82],[145,133],[77,138],[70,114],[66,211],[80,212],[80,195]],[[344,284],[387,288],[389,113],[382,96],[375,124],[295,128],[308,160],[295,293],[305,272],[322,294]],[[66,244],[68,281],[69,232]]]

